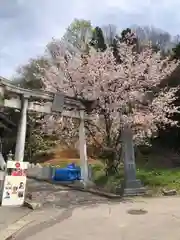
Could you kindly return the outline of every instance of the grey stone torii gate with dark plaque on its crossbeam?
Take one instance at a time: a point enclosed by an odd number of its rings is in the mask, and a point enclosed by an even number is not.
[[[23,161],[24,159],[28,111],[47,114],[59,113],[60,116],[78,118],[80,119],[79,142],[82,176],[84,183],[87,183],[88,162],[84,120],[90,119],[85,110],[86,106],[90,107],[92,103],[82,102],[61,92],[53,94],[45,91],[23,89],[0,77],[0,106],[21,111],[14,160]]]

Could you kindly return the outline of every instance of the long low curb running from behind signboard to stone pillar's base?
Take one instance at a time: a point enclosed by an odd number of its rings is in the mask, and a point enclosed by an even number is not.
[[[121,199],[123,197],[122,195],[107,193],[107,192],[103,192],[103,191],[100,191],[100,190],[97,190],[97,189],[92,189],[92,188],[83,188],[83,186],[77,186],[77,185],[75,186],[75,185],[68,184],[68,183],[62,183],[62,182],[60,183],[60,182],[54,182],[54,181],[51,181],[51,180],[37,179],[35,177],[28,177],[28,178],[29,179],[34,179],[34,180],[39,181],[39,182],[47,182],[47,183],[54,184],[54,185],[65,186],[65,187],[71,188],[73,190],[81,191],[81,192],[92,193],[94,195],[98,195],[98,196],[105,197],[105,198],[108,198],[108,199]]]

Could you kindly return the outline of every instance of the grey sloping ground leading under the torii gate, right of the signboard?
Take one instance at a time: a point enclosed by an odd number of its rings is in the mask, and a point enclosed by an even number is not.
[[[45,208],[69,208],[108,202],[108,199],[91,193],[33,179],[28,179],[27,191],[32,194],[34,201],[41,202]]]

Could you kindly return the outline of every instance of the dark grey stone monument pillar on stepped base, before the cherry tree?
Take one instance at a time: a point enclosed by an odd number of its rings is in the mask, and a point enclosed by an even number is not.
[[[134,156],[133,135],[130,128],[126,127],[123,132],[123,155],[125,179],[121,186],[124,196],[142,195],[145,188],[141,181],[136,179],[136,164]]]

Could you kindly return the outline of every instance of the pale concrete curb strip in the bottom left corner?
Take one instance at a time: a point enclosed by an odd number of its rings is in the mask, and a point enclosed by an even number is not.
[[[16,222],[10,224],[7,228],[3,229],[0,232],[0,239],[1,240],[11,240],[13,239],[13,236],[20,231],[22,228],[24,228],[25,226],[27,226],[29,223],[32,222],[31,219],[26,219],[26,217],[29,215],[30,213],[28,213],[27,215],[25,215],[24,217],[22,217],[20,220],[17,220]]]

